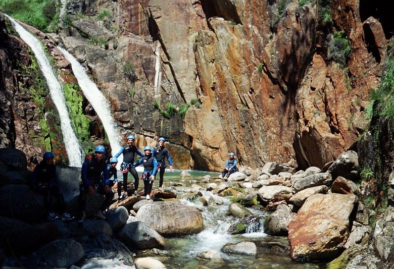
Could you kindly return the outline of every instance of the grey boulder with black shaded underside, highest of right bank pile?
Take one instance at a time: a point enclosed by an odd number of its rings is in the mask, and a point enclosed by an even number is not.
[[[356,151],[348,150],[339,154],[334,163],[328,168],[333,178],[342,176],[349,180],[356,180],[359,170],[359,158]]]

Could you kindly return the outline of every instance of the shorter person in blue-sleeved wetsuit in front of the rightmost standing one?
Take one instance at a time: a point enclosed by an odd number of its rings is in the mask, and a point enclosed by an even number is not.
[[[146,200],[149,200],[151,199],[149,195],[151,194],[152,185],[155,181],[158,162],[155,157],[152,156],[152,148],[150,146],[145,146],[143,151],[145,152],[145,156],[140,158],[135,166],[137,167],[140,164],[143,164],[141,179],[143,180],[144,196],[146,197]]]

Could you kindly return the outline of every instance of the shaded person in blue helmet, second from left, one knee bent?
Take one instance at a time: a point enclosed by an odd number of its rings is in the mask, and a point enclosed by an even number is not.
[[[107,165],[103,159],[106,149],[104,146],[97,146],[94,154],[89,154],[85,158],[81,169],[81,183],[79,183],[79,210],[80,217],[78,223],[84,223],[86,219],[86,195],[94,195],[95,192],[106,197],[100,210],[94,214],[96,220],[107,220],[103,212],[110,206],[114,193],[110,188],[110,178]],[[103,173],[103,180],[101,174]]]

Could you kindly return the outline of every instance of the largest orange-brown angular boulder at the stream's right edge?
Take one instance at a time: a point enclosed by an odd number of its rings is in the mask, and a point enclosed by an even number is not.
[[[353,194],[309,197],[288,225],[291,257],[315,260],[339,254],[349,237],[353,221],[349,218],[356,206],[357,197]]]

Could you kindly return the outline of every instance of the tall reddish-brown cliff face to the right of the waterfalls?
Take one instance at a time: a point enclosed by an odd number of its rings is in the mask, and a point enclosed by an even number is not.
[[[178,168],[220,170],[228,151],[253,167],[322,167],[364,129],[394,29],[366,1],[325,2],[74,0],[59,42],[90,70],[122,134],[139,146],[168,138]],[[190,107],[171,116],[171,105]]]

